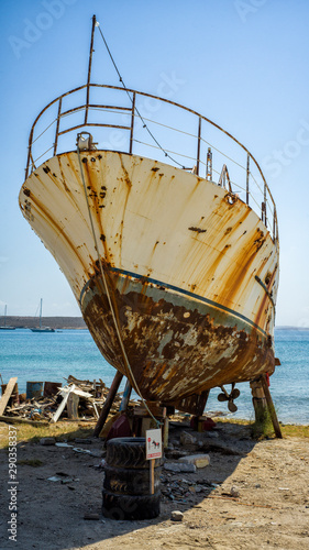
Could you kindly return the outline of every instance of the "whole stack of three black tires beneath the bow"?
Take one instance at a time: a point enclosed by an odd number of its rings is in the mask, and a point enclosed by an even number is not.
[[[103,516],[111,519],[152,519],[159,515],[162,459],[155,460],[154,494],[145,438],[115,438],[107,442]]]

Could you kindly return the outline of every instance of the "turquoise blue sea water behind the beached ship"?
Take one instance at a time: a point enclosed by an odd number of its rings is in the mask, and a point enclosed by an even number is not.
[[[278,419],[284,424],[309,425],[309,329],[276,329],[275,349],[282,365],[271,377],[271,393]],[[65,385],[65,378],[70,374],[80,380],[101,378],[110,386],[115,370],[103,359],[88,330],[38,333],[16,329],[0,331],[0,374],[1,384],[18,376],[19,392],[23,393],[26,382],[60,382]],[[219,388],[211,389],[206,409],[253,419],[249,383],[236,387],[241,391],[235,400],[236,413],[230,414],[227,403],[217,400],[221,393]]]

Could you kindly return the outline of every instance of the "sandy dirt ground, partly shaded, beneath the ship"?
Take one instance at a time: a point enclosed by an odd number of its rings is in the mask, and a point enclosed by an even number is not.
[[[8,430],[0,424],[0,437]],[[256,442],[247,426],[222,422],[217,436],[209,437],[175,424],[166,463],[195,451],[180,444],[184,430],[198,436],[199,452],[209,453],[210,465],[190,474],[163,468],[161,515],[143,521],[102,517],[101,440],[70,443],[74,447],[19,442],[19,484],[8,483],[8,449],[2,449],[1,550],[309,548],[308,439]],[[48,480],[53,476],[58,481]],[[15,496],[8,491],[14,487]],[[14,498],[16,541],[8,532]],[[173,510],[184,514],[183,521],[170,519]],[[98,514],[99,519],[85,519],[86,514]]]

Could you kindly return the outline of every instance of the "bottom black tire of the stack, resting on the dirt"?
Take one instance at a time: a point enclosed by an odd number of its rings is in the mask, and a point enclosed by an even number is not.
[[[103,490],[102,513],[110,519],[152,519],[159,515],[159,491],[154,495],[115,495]]]

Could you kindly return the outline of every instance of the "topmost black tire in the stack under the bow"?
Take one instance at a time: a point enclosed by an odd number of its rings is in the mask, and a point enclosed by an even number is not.
[[[110,439],[107,442],[106,461],[109,466],[148,469],[145,438]],[[155,459],[155,468],[162,463],[163,459]]]

